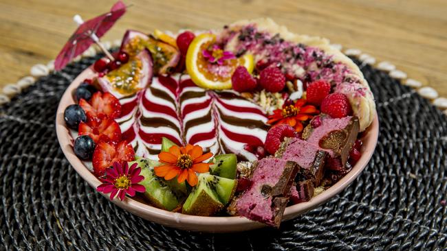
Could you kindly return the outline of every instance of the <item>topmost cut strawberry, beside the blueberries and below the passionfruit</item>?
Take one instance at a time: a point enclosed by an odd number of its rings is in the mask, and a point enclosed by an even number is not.
[[[110,93],[98,91],[91,97],[90,103],[85,99],[80,99],[79,105],[89,118],[109,117],[115,119],[121,115],[120,101]]]

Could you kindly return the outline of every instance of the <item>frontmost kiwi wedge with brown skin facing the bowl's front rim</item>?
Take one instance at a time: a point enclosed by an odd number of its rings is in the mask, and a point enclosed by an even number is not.
[[[235,194],[237,181],[211,174],[199,174],[198,178],[199,183],[186,198],[182,213],[200,216],[214,215]]]

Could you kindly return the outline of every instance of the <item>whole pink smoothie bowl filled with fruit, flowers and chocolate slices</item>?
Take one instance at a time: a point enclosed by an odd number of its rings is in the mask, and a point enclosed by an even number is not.
[[[270,19],[129,30],[114,58],[67,88],[58,141],[91,187],[152,222],[279,228],[347,187],[377,143],[356,64]]]

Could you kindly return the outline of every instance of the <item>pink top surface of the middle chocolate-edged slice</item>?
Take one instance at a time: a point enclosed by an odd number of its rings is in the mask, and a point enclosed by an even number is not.
[[[321,150],[317,144],[310,144],[301,139],[292,139],[285,148],[282,159],[296,162],[301,168],[309,169],[314,163],[316,153]]]

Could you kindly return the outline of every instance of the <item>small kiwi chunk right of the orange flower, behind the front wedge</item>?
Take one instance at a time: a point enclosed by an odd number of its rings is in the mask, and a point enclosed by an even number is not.
[[[213,165],[210,165],[210,174],[223,178],[235,179],[237,172],[236,154],[220,154],[212,159]]]

